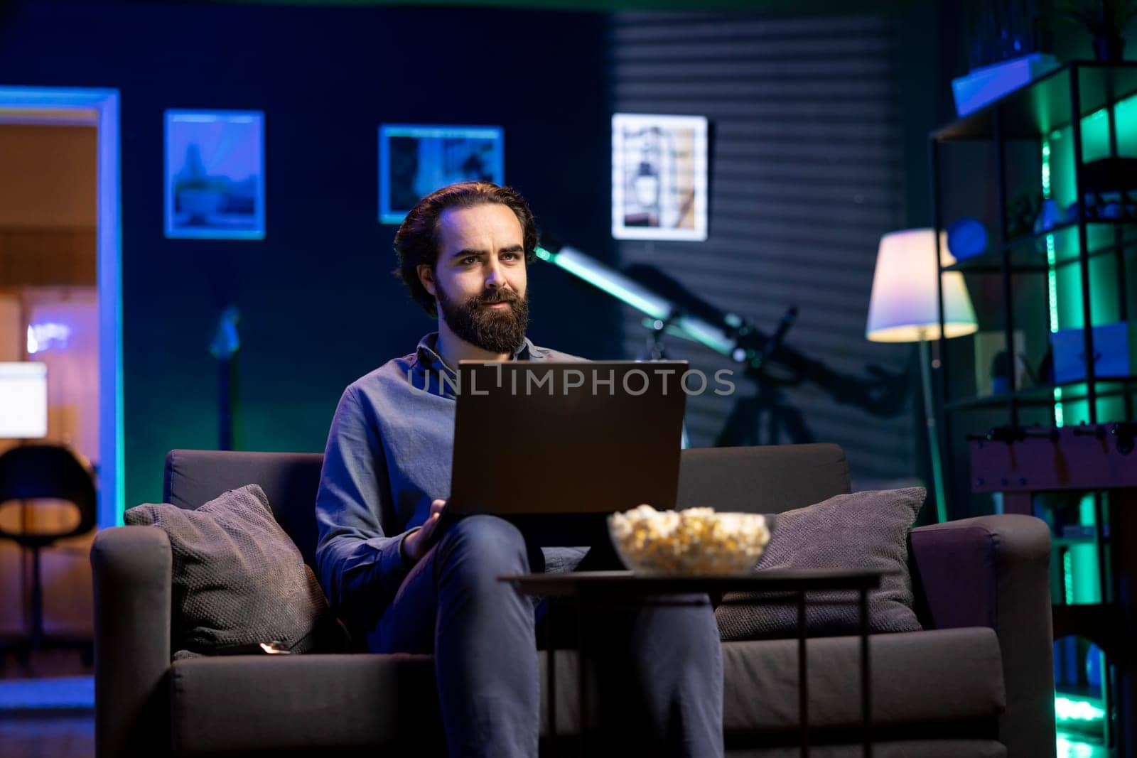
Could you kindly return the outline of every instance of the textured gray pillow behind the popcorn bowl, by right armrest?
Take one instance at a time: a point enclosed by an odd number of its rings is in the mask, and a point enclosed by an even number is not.
[[[755,570],[798,568],[874,568],[888,572],[880,589],[869,593],[872,632],[914,632],[908,576],[908,528],[920,513],[923,488],[839,494],[797,510],[787,510]],[[767,602],[756,602],[764,599]],[[810,634],[850,634],[860,630],[854,592],[806,595]],[[848,600],[852,602],[832,602]],[[818,601],[818,602],[813,602]],[[771,593],[728,592],[715,608],[723,640],[753,640],[797,633],[796,599]]]

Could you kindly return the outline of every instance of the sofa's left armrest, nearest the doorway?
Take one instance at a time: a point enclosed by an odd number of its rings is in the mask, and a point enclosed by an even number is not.
[[[103,530],[94,578],[94,742],[98,758],[169,752],[169,539],[156,526]]]

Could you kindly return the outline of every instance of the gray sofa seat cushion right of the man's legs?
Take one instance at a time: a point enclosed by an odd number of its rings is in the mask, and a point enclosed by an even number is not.
[[[873,726],[994,723],[1006,707],[991,628],[880,634],[869,650]],[[858,636],[807,641],[811,727],[861,724],[860,652]],[[725,642],[722,656],[728,734],[798,727],[797,640]]]

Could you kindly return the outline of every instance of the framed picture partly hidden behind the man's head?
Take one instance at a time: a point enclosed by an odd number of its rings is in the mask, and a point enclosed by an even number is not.
[[[500,126],[379,127],[379,220],[399,224],[423,195],[455,182],[505,184]]]

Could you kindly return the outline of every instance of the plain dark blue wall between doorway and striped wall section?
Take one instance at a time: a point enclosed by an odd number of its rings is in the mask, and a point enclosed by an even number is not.
[[[566,13],[9,6],[5,84],[121,93],[126,506],[160,498],[167,450],[216,447],[207,345],[226,305],[248,450],[322,450],[343,386],[434,328],[390,275],[380,123],[504,125],[506,180],[541,226],[611,259],[605,32]],[[265,240],[164,238],[166,108],[265,111]],[[619,355],[604,295],[547,266],[530,282],[534,341]]]

